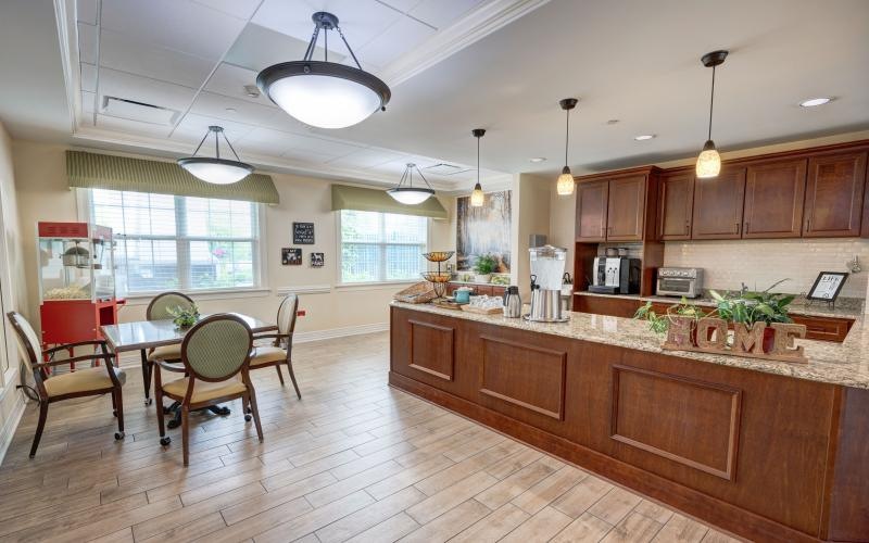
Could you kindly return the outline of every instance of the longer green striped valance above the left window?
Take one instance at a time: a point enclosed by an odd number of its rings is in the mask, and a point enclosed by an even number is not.
[[[232,185],[197,179],[174,162],[66,151],[70,187],[279,203],[272,177],[251,174]]]

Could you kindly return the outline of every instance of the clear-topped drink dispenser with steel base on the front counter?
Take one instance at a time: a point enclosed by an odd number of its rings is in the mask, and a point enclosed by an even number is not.
[[[531,257],[531,313],[527,320],[538,323],[565,323],[562,311],[562,279],[567,250],[558,247],[532,247]]]

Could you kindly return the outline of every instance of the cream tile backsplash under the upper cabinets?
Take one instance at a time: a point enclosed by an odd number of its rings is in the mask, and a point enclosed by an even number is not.
[[[664,265],[698,267],[704,270],[704,288],[735,290],[744,282],[763,290],[790,278],[778,292],[808,292],[820,272],[851,272],[847,262],[857,256],[864,270],[852,274],[840,295],[866,298],[869,281],[869,240],[709,240],[668,241]]]

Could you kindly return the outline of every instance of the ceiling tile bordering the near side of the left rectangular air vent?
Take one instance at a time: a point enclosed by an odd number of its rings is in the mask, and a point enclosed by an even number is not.
[[[105,67],[100,68],[100,99],[123,98],[184,112],[193,101],[194,89],[158,81]]]

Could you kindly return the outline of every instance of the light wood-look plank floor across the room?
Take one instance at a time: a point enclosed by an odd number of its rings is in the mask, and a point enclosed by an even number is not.
[[[537,542],[730,536],[387,383],[387,333],[297,345],[302,400],[255,371],[265,442],[238,402],[158,443],[135,358],[127,437],[109,397],[29,405],[0,467],[0,541]],[[289,380],[288,380],[289,383]]]

